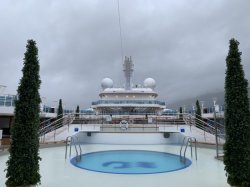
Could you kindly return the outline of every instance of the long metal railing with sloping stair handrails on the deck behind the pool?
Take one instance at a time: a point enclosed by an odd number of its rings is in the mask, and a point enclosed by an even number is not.
[[[151,120],[149,120],[151,119]],[[207,118],[196,118],[192,114],[182,113],[176,114],[176,116],[163,116],[163,115],[88,115],[82,113],[71,113],[61,116],[59,119],[49,119],[41,123],[39,130],[40,141],[45,142],[45,137],[48,133],[50,136],[54,136],[56,139],[57,129],[65,125],[68,126],[73,122],[74,124],[91,125],[95,124],[99,127],[99,131],[103,132],[120,132],[120,122],[126,120],[129,124],[129,128],[126,132],[159,132],[159,127],[164,125],[176,125],[177,129],[182,125],[189,125],[190,131],[192,127],[197,127],[203,133],[205,142],[206,139],[214,135],[215,138],[219,137],[218,142],[224,143],[224,125]],[[131,127],[131,128],[130,128]],[[123,131],[124,132],[124,131]],[[209,136],[208,136],[209,135]],[[53,137],[52,137],[53,138]]]

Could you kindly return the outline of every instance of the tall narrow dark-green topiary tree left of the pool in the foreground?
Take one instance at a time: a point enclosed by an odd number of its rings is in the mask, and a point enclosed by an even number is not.
[[[6,185],[28,186],[40,183],[39,136],[40,76],[36,42],[28,40],[24,54],[23,77],[17,89],[15,121],[11,127],[10,156]]]

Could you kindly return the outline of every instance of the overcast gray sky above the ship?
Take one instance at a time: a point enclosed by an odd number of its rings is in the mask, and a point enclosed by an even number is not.
[[[249,80],[249,7],[249,0],[120,0],[133,82],[154,78],[167,104],[223,91],[232,37]],[[1,0],[0,28],[5,94],[16,94],[28,39],[37,42],[40,93],[49,105],[62,98],[66,108],[88,108],[99,99],[103,78],[124,82],[117,0]]]

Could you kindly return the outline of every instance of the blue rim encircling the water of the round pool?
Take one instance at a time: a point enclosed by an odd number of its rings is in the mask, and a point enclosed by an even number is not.
[[[167,153],[167,152],[160,152],[160,151],[153,151],[153,150],[105,150],[105,151],[95,151],[95,152],[89,152],[89,153],[85,153],[85,154],[82,154],[82,158],[81,159],[84,159],[84,157],[86,156],[91,156],[91,155],[95,155],[95,154],[101,154],[101,153],[112,153],[112,152],[143,152],[143,153],[157,153],[157,154],[163,154],[163,155],[166,155],[166,156],[174,156],[176,157],[176,159],[180,160],[180,155],[176,155],[176,154],[173,154],[173,153]],[[183,158],[182,158],[183,159]],[[180,161],[181,162],[181,161]],[[178,170],[183,170],[187,167],[189,167],[191,164],[192,164],[192,161],[188,158],[185,158],[185,162],[183,163],[183,165],[181,167],[178,167],[178,168],[175,168],[175,169],[170,169],[170,170],[164,170],[164,171],[153,171],[153,172],[113,172],[113,171],[105,171],[105,170],[97,170],[97,169],[92,169],[92,168],[87,168],[87,167],[81,167],[78,164],[78,162],[76,161],[76,157],[73,157],[70,159],[70,163],[77,167],[77,168],[80,168],[80,169],[83,169],[83,170],[87,170],[87,171],[93,171],[93,172],[99,172],[99,173],[109,173],[109,174],[126,174],[126,175],[137,175],[137,174],[159,174],[159,173],[168,173],[168,172],[174,172],[174,171],[178,171]]]

